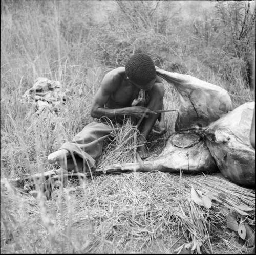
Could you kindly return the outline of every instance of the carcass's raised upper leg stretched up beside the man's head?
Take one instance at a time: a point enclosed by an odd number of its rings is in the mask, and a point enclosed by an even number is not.
[[[189,129],[194,125],[205,127],[232,110],[228,92],[190,75],[172,73],[156,67],[157,75],[174,85],[180,100],[175,130]]]

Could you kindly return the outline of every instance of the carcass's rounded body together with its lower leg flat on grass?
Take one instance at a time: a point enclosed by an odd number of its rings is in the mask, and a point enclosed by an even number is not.
[[[144,160],[142,164],[111,165],[106,172],[159,170],[209,173],[219,168],[232,182],[254,186],[255,150],[249,136],[253,107],[254,102],[245,103],[207,127],[176,132],[169,137],[158,157]]]

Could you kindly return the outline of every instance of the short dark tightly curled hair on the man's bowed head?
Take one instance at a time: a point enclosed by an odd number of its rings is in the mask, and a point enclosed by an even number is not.
[[[156,78],[154,62],[146,54],[134,54],[126,62],[126,75],[138,85],[146,85]]]

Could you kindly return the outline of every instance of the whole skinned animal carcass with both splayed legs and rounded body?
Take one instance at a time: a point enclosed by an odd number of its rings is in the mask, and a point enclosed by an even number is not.
[[[253,103],[231,111],[232,102],[225,89],[159,68],[157,74],[178,92],[176,132],[159,156],[142,163],[114,164],[106,167],[105,172],[211,173],[219,168],[233,182],[254,185],[255,151],[249,142]]]

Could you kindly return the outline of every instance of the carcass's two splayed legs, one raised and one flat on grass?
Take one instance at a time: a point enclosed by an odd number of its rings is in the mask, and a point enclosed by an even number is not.
[[[207,126],[232,109],[227,91],[190,75],[172,73],[156,68],[157,74],[175,86],[180,109],[176,130]],[[218,171],[205,141],[193,131],[175,132],[169,137],[162,153],[143,163],[114,164],[106,172],[152,171],[200,173]]]

